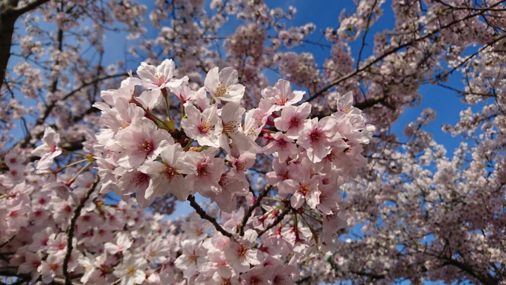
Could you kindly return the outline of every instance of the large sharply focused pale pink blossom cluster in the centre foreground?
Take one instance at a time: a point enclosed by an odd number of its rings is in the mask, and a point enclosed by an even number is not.
[[[338,112],[311,119],[311,105],[297,105],[304,92],[279,80],[262,91],[259,108],[246,112],[240,106],[245,87],[236,70],[215,67],[204,87],[193,91],[183,85],[186,77],[173,77],[174,69],[172,60],[157,67],[143,63],[137,70],[140,78],[103,91],[105,102],[95,104],[106,126],[94,145],[102,153],[97,159],[103,191],[120,196],[136,192],[141,206],[167,191],[181,201],[199,193],[231,212],[236,197],[249,193],[248,168],[266,154],[275,157],[268,183],[282,198],[291,195],[292,207],[306,201],[316,209],[321,189],[337,193],[339,178],[363,164],[361,145],[373,128],[351,106],[351,94],[340,99]],[[145,90],[134,96],[135,86]],[[170,118],[168,91],[183,104],[180,122]],[[168,116],[160,119],[151,111],[164,101]],[[257,144],[261,133],[264,147]],[[327,215],[332,208],[338,210],[333,206]]]

